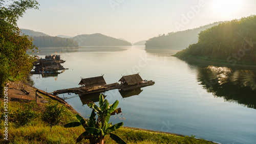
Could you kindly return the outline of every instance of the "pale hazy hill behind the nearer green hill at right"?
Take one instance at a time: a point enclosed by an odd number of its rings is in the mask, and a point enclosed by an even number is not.
[[[190,29],[186,31],[172,32],[167,35],[159,35],[148,39],[145,43],[146,49],[173,49],[183,50],[189,46],[189,44],[196,43],[198,41],[198,34],[212,26],[219,25],[222,22],[215,22],[210,25],[202,26],[196,29]]]

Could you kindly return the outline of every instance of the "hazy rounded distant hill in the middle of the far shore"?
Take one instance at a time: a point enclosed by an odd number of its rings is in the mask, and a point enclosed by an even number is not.
[[[73,37],[79,46],[130,46],[130,42],[102,34],[78,35]]]

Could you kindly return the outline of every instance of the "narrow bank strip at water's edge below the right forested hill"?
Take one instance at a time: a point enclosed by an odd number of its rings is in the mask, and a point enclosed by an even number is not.
[[[224,60],[217,60],[217,59],[209,59],[207,57],[192,57],[192,56],[179,56],[179,55],[172,55],[177,57],[181,60],[184,60],[191,64],[197,65],[216,65],[216,66],[231,66],[231,67],[238,67],[238,68],[256,68],[255,63],[245,63],[239,61],[224,61]]]

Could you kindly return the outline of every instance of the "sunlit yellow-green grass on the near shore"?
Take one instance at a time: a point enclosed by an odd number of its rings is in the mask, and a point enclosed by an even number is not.
[[[52,102],[57,103],[55,101]],[[24,103],[20,102],[9,102],[9,105],[10,113],[24,107]],[[3,110],[2,107],[0,109],[1,111]],[[50,126],[47,126],[40,119],[40,112],[42,109],[44,109],[44,105],[42,104],[36,104],[33,107],[33,110],[38,116],[32,119],[32,121],[26,126],[16,127],[13,123],[9,122],[8,141],[4,139],[4,124],[2,122],[0,143],[76,143],[76,138],[84,132],[83,127],[64,128],[61,126],[63,124],[77,121],[75,113],[65,107],[65,113],[60,125],[52,127],[52,131],[50,132]],[[11,120],[11,117],[9,117],[9,119]],[[168,133],[127,127],[122,127],[114,133],[119,135],[127,143],[212,143],[203,139],[196,139],[193,136],[177,136]],[[89,143],[89,140],[82,140],[79,143]],[[105,143],[115,143],[115,141],[113,141],[109,136],[106,136]]]

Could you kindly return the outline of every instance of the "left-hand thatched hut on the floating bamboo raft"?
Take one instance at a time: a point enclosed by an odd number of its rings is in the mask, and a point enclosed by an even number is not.
[[[106,82],[105,82],[103,76],[82,79],[79,83],[79,85],[82,85],[82,86],[86,87],[87,89],[93,88],[94,86],[103,86],[105,84],[106,84]]]

